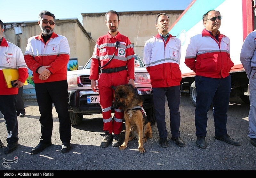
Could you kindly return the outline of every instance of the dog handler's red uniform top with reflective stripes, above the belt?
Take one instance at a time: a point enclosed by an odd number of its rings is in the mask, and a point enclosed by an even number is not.
[[[120,47],[117,50],[114,47],[114,43],[116,41],[120,42]],[[108,33],[98,38],[93,55],[92,55],[90,80],[91,79],[98,80],[99,78],[99,70],[98,70],[99,60],[100,60],[101,66],[105,65],[109,61],[109,59],[113,56],[114,52],[115,52],[115,57],[103,69],[127,66],[128,80],[135,79],[134,78],[133,46],[128,37],[121,35],[118,32],[115,37],[112,37]]]

